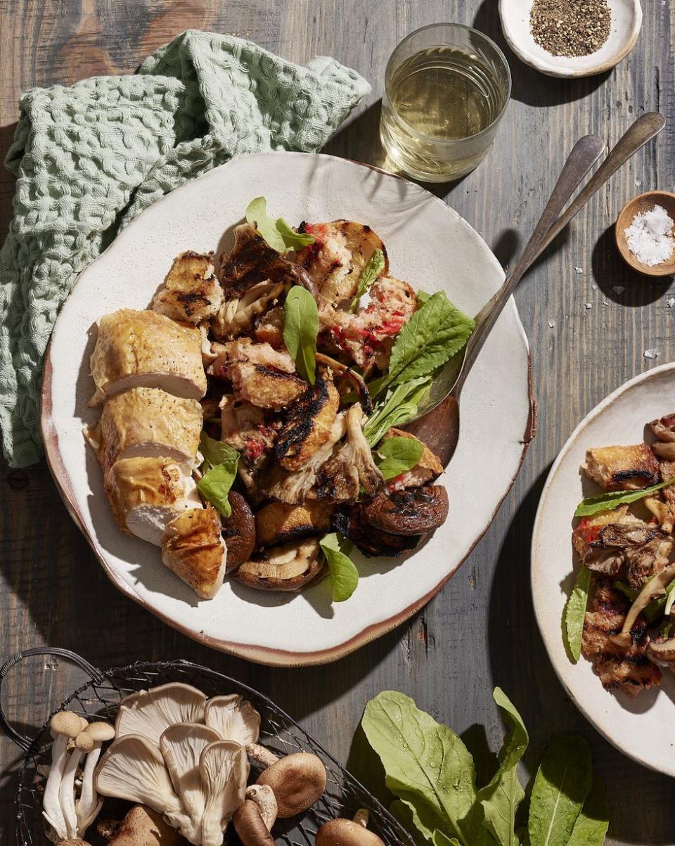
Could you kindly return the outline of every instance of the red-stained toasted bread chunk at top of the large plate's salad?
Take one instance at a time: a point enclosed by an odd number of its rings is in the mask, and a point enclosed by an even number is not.
[[[296,260],[316,283],[320,311],[351,302],[361,272],[377,249],[384,253],[383,273],[387,273],[387,250],[370,226],[348,220],[304,222],[299,232],[309,233],[314,238],[314,244],[300,250]]]

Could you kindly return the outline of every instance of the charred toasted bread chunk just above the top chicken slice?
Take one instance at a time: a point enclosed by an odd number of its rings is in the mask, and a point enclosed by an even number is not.
[[[196,325],[215,315],[221,304],[222,288],[211,255],[188,251],[173,260],[162,288],[152,300],[152,310]]]

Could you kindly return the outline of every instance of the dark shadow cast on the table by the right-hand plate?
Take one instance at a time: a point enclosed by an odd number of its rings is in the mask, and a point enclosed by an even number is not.
[[[524,497],[497,559],[488,629],[492,679],[513,700],[530,731],[530,746],[524,755],[530,783],[555,734],[581,733],[590,742],[595,772],[606,783],[610,834],[621,838],[622,843],[642,846],[672,843],[672,824],[667,815],[645,817],[635,809],[641,802],[644,806],[653,804],[656,796],[666,799],[670,807],[675,801],[675,781],[621,755],[584,720],[557,680],[536,628],[530,591],[530,539],[549,469]],[[628,794],[632,795],[627,801]]]

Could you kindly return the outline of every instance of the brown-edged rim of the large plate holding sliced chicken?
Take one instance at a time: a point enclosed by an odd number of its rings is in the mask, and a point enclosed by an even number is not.
[[[386,176],[393,177],[394,179],[400,179],[404,183],[411,185],[414,190],[420,190],[425,195],[428,195],[432,198],[432,201],[435,203],[441,204],[445,209],[449,209],[453,211],[458,218],[464,223],[464,225],[468,226],[472,229],[476,236],[485,244],[486,250],[492,255],[495,261],[497,258],[492,253],[492,250],[486,243],[486,241],[482,238],[480,233],[478,233],[471,224],[462,217],[458,211],[455,211],[452,206],[448,206],[448,204],[442,200],[441,197],[438,197],[431,193],[431,191],[425,189],[420,184],[414,183],[410,179],[405,179],[405,177],[401,176],[398,173],[389,173],[388,171],[376,167],[376,165],[368,164],[367,162],[358,162],[354,159],[349,159],[346,157],[339,157],[339,156],[331,156],[327,153],[305,153],[305,152],[298,152],[298,151],[272,151],[267,152],[265,151],[262,155],[277,155],[279,152],[282,155],[290,155],[290,156],[298,156],[298,157],[321,157],[325,159],[338,159],[338,161],[348,162],[352,165],[358,166],[360,168],[368,168],[369,170],[376,171],[377,173],[383,173]],[[246,157],[259,155],[257,153],[249,153],[244,154]],[[244,157],[242,155],[241,157]],[[207,173],[202,174],[197,179],[192,179],[183,185],[178,186],[178,188],[170,191],[166,195],[162,195],[158,200],[151,203],[146,209],[140,212],[138,217],[134,217],[134,220],[129,222],[129,226],[132,225],[134,222],[138,221],[140,217],[143,217],[145,212],[151,211],[155,206],[161,204],[163,201],[167,201],[167,198],[170,195],[175,194],[177,191],[184,190],[189,188],[195,182],[198,182],[200,179],[207,179],[211,173],[220,169],[220,168],[227,168],[232,162],[236,161],[236,159],[241,157],[233,157],[229,160],[229,162],[225,162],[222,165],[219,165],[218,168],[211,168],[210,171]],[[126,227],[126,228],[129,228]],[[122,232],[126,230],[121,230]],[[119,233],[118,233],[119,234]],[[82,275],[87,272],[91,266],[98,261],[98,259],[107,253],[113,247],[113,244],[117,240],[117,237],[113,239],[111,244],[108,244],[106,250],[100,255],[96,256],[96,259],[91,262],[88,266],[85,267],[83,271],[80,272],[77,279],[74,282],[73,288],[70,289],[68,297],[73,294],[75,286],[80,282],[80,278]],[[498,264],[498,261],[497,261]],[[68,297],[66,299],[68,299]],[[513,298],[512,298],[513,300]],[[65,300],[64,300],[65,303]],[[60,312],[59,312],[60,316]],[[357,634],[354,634],[352,637],[348,638],[348,640],[343,640],[342,643],[328,647],[327,649],[317,650],[317,651],[289,651],[289,650],[282,650],[277,648],[272,648],[270,646],[262,646],[256,644],[248,644],[248,643],[240,643],[239,641],[233,640],[220,640],[218,638],[213,638],[209,635],[203,634],[202,632],[195,631],[193,629],[189,629],[183,624],[179,624],[173,618],[170,618],[166,614],[162,613],[158,609],[151,607],[145,600],[139,596],[133,589],[131,585],[128,585],[121,577],[116,574],[113,569],[111,569],[105,558],[102,554],[98,551],[96,547],[96,543],[94,539],[91,537],[90,533],[85,529],[85,523],[82,519],[80,514],[80,510],[75,503],[75,497],[73,488],[70,484],[70,477],[65,468],[65,464],[63,463],[63,456],[58,446],[58,433],[56,431],[56,427],[54,426],[54,421],[52,418],[52,341],[50,341],[47,345],[47,351],[45,353],[43,371],[42,371],[42,384],[41,384],[41,415],[40,415],[40,426],[41,426],[41,435],[42,441],[44,443],[45,448],[45,457],[47,459],[47,466],[49,471],[52,475],[52,479],[57,487],[58,493],[63,500],[63,503],[68,510],[71,518],[74,520],[75,525],[80,529],[80,532],[83,536],[85,536],[85,540],[88,542],[89,546],[91,547],[92,552],[98,562],[101,564],[103,572],[107,575],[107,578],[113,583],[113,585],[121,591],[125,596],[128,596],[129,599],[132,599],[136,604],[140,605],[140,607],[144,608],[146,612],[153,614],[156,618],[162,620],[162,623],[167,624],[172,629],[177,630],[181,634],[189,637],[191,640],[196,640],[198,643],[202,645],[206,645],[211,647],[211,649],[215,649],[217,651],[224,652],[228,655],[233,655],[237,657],[244,658],[247,661],[255,662],[264,664],[268,667],[314,667],[321,664],[327,664],[330,662],[338,661],[339,658],[349,655],[350,653],[358,650],[361,646],[364,646],[370,643],[372,640],[376,640],[377,638],[381,637],[383,634],[387,634],[388,632],[395,629],[398,625],[404,623],[406,620],[411,618],[415,613],[420,611],[422,607],[424,607],[427,602],[430,602],[431,599],[436,596],[436,594],[442,590],[443,586],[447,584],[447,582],[452,579],[453,575],[457,573],[458,569],[462,566],[462,564],[469,558],[469,555],[475,550],[475,547],[478,545],[480,540],[485,536],[486,531],[490,528],[497,512],[502,507],[502,503],[508,496],[508,493],[511,492],[513,487],[513,483],[516,480],[516,477],[519,475],[520,468],[522,467],[525,454],[527,453],[528,448],[530,447],[530,443],[534,440],[536,435],[536,426],[537,426],[537,404],[535,401],[534,395],[534,385],[532,379],[532,354],[530,350],[530,342],[527,338],[527,334],[524,331],[524,327],[522,321],[520,320],[520,316],[518,310],[516,309],[516,316],[519,322],[519,330],[523,337],[525,349],[527,352],[527,384],[528,384],[528,416],[527,421],[525,424],[525,430],[523,433],[523,437],[521,438],[522,443],[522,450],[520,453],[520,458],[518,462],[518,466],[516,467],[515,472],[513,473],[512,478],[508,482],[508,486],[506,486],[505,491],[500,498],[499,502],[497,503],[496,507],[492,511],[490,518],[487,520],[486,525],[480,530],[480,534],[476,536],[475,541],[469,547],[464,558],[458,561],[457,565],[450,569],[447,574],[445,574],[433,588],[431,591],[427,591],[424,596],[421,596],[415,602],[412,602],[409,606],[403,608],[402,611],[396,614],[392,614],[391,617],[385,618],[381,620],[379,623],[370,624],[366,626],[365,629],[361,629]],[[57,317],[58,321],[58,317]],[[56,322],[54,324],[54,328],[56,328]],[[52,330],[53,332],[53,330]]]

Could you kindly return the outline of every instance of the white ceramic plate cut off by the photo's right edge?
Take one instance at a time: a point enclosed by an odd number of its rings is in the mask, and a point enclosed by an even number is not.
[[[563,609],[573,584],[573,513],[584,498],[579,473],[586,450],[643,440],[645,423],[675,409],[675,363],[626,382],[579,423],[553,464],[532,537],[532,593],[537,624],[571,700],[628,757],[675,776],[675,676],[632,699],[603,689],[590,661],[573,664],[563,645]]]

